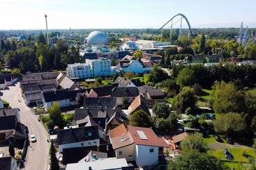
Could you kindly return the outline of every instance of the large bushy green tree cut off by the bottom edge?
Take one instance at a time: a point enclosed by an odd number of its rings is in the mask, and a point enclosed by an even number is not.
[[[213,170],[223,169],[220,160],[217,160],[207,153],[199,153],[199,151],[190,149],[184,151],[181,155],[176,156],[175,160],[170,160],[168,170]]]

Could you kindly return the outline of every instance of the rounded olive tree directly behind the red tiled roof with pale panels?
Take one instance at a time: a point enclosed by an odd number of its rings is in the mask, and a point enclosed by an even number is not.
[[[129,123],[131,126],[140,126],[140,127],[152,127],[153,121],[151,117],[146,114],[143,110],[137,110],[129,117]]]

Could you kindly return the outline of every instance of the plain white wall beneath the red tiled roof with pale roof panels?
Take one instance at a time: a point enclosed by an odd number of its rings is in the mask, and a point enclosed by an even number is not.
[[[150,149],[153,148],[153,153]],[[146,166],[158,163],[158,147],[136,145],[135,162],[137,166]]]

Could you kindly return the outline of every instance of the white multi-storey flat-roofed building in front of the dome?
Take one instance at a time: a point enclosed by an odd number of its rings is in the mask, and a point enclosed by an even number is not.
[[[96,60],[86,59],[85,63],[75,63],[68,65],[67,76],[70,78],[95,78],[100,76],[110,76],[111,60],[98,58]]]

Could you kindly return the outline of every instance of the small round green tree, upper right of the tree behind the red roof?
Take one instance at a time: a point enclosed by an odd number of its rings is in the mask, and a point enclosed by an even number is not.
[[[166,103],[156,102],[153,105],[153,114],[156,118],[167,119],[167,117],[169,117],[170,115],[170,112],[171,112],[170,107]]]

